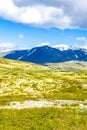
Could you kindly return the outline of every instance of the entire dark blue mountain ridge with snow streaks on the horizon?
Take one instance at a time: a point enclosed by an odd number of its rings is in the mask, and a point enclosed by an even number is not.
[[[31,50],[11,51],[4,58],[33,62],[37,64],[58,63],[65,61],[87,61],[87,50],[84,48],[67,48],[65,50],[50,46],[39,46]]]

